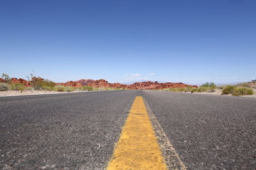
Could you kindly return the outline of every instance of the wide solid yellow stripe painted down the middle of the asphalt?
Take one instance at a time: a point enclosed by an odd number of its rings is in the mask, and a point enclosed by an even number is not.
[[[141,96],[134,99],[108,169],[167,169]]]

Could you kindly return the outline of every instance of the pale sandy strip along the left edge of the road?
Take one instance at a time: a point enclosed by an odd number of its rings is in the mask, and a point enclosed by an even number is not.
[[[82,92],[82,91],[75,91]],[[83,91],[86,92],[86,91]],[[38,94],[63,94],[63,93],[74,93],[74,92],[54,92],[47,90],[24,90],[23,92],[9,90],[9,91],[0,91],[0,97],[4,96],[27,96],[27,95],[38,95]]]

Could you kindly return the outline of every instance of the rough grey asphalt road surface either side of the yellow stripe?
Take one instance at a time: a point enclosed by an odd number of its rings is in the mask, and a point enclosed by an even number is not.
[[[255,169],[255,98],[146,90],[0,97],[0,169],[106,168],[136,96],[187,169]]]

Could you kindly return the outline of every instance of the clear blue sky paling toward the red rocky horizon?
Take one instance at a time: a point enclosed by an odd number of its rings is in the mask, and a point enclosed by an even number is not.
[[[0,0],[0,74],[63,82],[256,79],[256,1]]]

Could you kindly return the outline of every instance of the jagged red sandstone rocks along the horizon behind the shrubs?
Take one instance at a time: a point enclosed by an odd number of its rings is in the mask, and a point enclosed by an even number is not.
[[[44,78],[32,78],[31,81],[24,80],[22,78],[12,78],[12,83],[22,83],[26,87],[30,87],[31,83],[34,81],[43,81]],[[0,82],[6,82],[3,78],[0,78]],[[56,85],[63,85],[68,87],[83,87],[84,85],[92,86],[95,88],[103,87],[103,88],[113,88],[113,89],[132,89],[132,90],[150,90],[150,89],[174,89],[174,88],[184,88],[184,87],[195,87],[196,85],[187,85],[184,83],[158,83],[157,81],[144,81],[144,82],[136,82],[131,85],[124,85],[121,83],[109,83],[106,80],[91,80],[91,79],[81,79],[77,81],[67,81],[67,83],[56,83]]]

